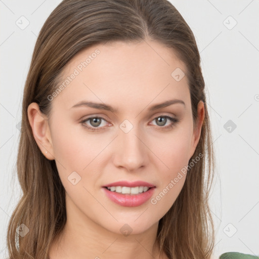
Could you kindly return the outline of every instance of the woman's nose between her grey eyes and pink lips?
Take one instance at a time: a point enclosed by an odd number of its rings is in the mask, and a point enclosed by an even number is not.
[[[134,172],[148,164],[149,149],[137,127],[133,127],[128,133],[119,129],[115,145],[113,163],[116,167]]]

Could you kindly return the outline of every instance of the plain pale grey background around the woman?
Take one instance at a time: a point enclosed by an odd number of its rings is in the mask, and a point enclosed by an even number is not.
[[[7,256],[7,224],[21,194],[12,172],[24,83],[38,32],[59,3],[0,0],[0,258]],[[259,255],[259,1],[171,3],[196,37],[207,89],[217,158],[210,197],[217,234],[212,258],[227,251]]]

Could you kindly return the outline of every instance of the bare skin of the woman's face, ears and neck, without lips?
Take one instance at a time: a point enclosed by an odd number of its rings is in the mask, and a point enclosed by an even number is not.
[[[170,49],[150,40],[83,50],[65,67],[64,80],[96,49],[100,54],[51,101],[49,120],[36,103],[28,107],[33,136],[46,158],[56,160],[66,191],[67,223],[60,240],[52,243],[49,256],[165,259],[164,253],[158,256],[155,245],[158,222],[174,204],[186,176],[156,204],[148,200],[135,207],[114,203],[102,186],[141,180],[156,186],[154,199],[188,165],[200,138],[204,104],[198,104],[195,131],[187,76],[180,81],[171,76],[176,68],[186,71],[186,67]],[[184,104],[149,110],[171,99]],[[110,105],[117,112],[71,108],[82,100]],[[90,117],[101,117],[100,124],[93,119],[81,122]],[[126,127],[133,126],[127,133],[119,127],[125,119],[130,122]],[[76,185],[68,181],[73,171],[81,177]],[[130,235],[121,233],[124,224],[130,226]]]

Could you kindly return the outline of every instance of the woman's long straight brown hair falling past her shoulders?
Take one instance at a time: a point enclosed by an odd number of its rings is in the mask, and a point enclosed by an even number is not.
[[[202,100],[205,107],[200,140],[192,158],[200,153],[204,156],[189,168],[177,200],[159,221],[156,242],[169,258],[210,258],[214,229],[208,194],[214,154],[200,55],[190,27],[166,0],[64,0],[39,32],[25,83],[17,157],[23,195],[8,226],[10,259],[48,258],[52,241],[66,223],[64,187],[55,160],[42,155],[33,138],[29,104],[36,102],[42,113],[51,115],[52,102],[47,96],[59,85],[64,66],[84,48],[106,41],[146,39],[170,48],[185,63],[194,126],[198,102]],[[24,237],[16,232],[21,224],[29,229]]]

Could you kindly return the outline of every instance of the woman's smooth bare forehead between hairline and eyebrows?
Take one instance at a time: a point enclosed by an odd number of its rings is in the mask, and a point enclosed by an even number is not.
[[[180,69],[180,70],[179,70]],[[177,71],[177,72],[174,72]],[[54,99],[63,109],[76,102],[116,103],[137,108],[177,98],[190,100],[186,66],[156,41],[108,42],[77,53],[62,71],[63,90]],[[74,75],[73,75],[74,74]],[[73,77],[73,78],[72,78]],[[121,107],[123,108],[123,107]]]

